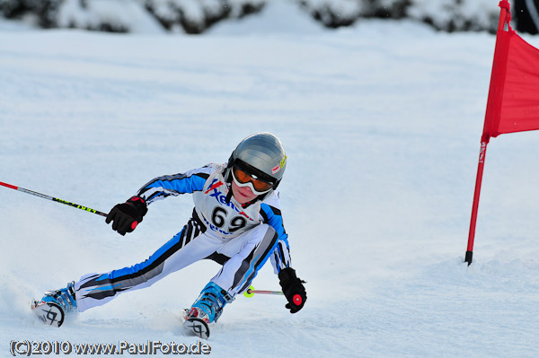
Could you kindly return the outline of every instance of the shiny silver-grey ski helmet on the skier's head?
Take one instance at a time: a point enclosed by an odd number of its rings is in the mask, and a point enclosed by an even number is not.
[[[267,132],[257,133],[243,139],[230,156],[225,172],[228,183],[232,182],[234,166],[272,184],[269,192],[259,196],[263,200],[273,193],[283,178],[287,168],[287,154],[277,136]]]

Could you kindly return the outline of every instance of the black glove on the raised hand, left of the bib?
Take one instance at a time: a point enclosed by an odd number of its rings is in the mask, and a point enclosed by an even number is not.
[[[127,202],[115,205],[107,215],[105,223],[113,222],[112,230],[125,235],[126,232],[135,230],[147,211],[146,201],[140,196],[133,196]]]

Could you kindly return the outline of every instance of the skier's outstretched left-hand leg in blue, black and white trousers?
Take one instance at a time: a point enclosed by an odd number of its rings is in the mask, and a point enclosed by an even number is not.
[[[84,311],[112,300],[119,293],[145,288],[165,275],[206,258],[221,245],[220,240],[204,234],[193,220],[157,249],[146,261],[105,274],[89,274],[75,283],[78,310]]]

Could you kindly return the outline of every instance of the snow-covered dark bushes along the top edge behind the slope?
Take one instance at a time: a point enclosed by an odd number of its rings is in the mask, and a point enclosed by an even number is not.
[[[495,31],[499,8],[490,0],[0,0],[7,18],[31,14],[45,28],[113,32],[202,33],[216,22],[243,20],[275,3],[293,4],[328,28],[364,18],[426,22],[443,31]],[[279,22],[275,23],[277,26]]]

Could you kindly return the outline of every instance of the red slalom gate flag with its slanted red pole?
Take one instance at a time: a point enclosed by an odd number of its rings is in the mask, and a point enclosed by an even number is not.
[[[482,172],[490,137],[539,129],[539,49],[528,44],[511,29],[508,0],[500,1],[499,7],[501,11],[496,33],[496,48],[465,257],[468,265],[472,264]]]

